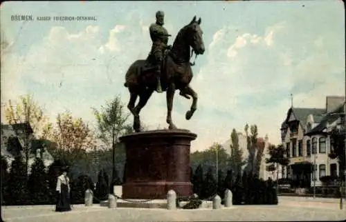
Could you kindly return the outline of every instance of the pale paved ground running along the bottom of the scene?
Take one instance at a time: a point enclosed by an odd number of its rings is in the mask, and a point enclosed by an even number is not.
[[[54,212],[53,206],[3,208],[6,222],[58,221],[340,221],[346,219],[346,210],[339,210],[338,200],[311,201],[280,199],[279,205],[233,206],[229,209],[163,210],[163,209],[109,209],[94,205],[73,206],[71,212]],[[345,207],[344,207],[345,209]]]

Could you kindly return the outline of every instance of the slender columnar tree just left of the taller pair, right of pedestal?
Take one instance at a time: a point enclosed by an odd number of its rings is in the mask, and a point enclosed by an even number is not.
[[[235,129],[230,134],[232,143],[230,144],[230,167],[234,170],[235,174],[242,172],[242,168],[245,165],[243,161],[243,150],[239,148],[239,138]]]

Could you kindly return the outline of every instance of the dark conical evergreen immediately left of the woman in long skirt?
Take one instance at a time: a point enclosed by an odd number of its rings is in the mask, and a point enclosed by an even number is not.
[[[28,180],[28,191],[30,192],[31,201],[37,204],[46,204],[48,202],[48,181],[46,166],[40,158],[36,158],[31,165],[31,173]]]

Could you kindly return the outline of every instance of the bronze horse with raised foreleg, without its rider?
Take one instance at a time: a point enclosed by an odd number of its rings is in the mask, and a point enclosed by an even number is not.
[[[197,55],[203,54],[205,50],[200,24],[201,18],[197,21],[195,16],[188,25],[181,28],[174,40],[172,48],[165,52],[163,65],[161,65],[161,86],[163,91],[166,91],[166,122],[169,124],[170,130],[176,129],[172,121],[175,90],[180,90],[181,96],[187,99],[192,97],[192,105],[190,110],[186,112],[185,119],[189,120],[194,114],[194,111],[197,110],[197,93],[190,87],[190,81],[193,77],[190,57],[192,52]],[[192,48],[191,54],[190,47]],[[156,77],[153,70],[145,68],[149,63],[148,61],[149,58],[147,60],[134,61],[129,66],[125,75],[124,85],[129,89],[130,93],[127,108],[134,115],[133,128],[136,132],[140,132],[140,110],[147,104],[147,101],[156,88]],[[139,102],[135,106],[138,96]]]

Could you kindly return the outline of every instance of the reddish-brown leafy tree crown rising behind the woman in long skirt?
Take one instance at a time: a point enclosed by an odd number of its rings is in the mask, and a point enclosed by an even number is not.
[[[57,115],[53,141],[57,143],[57,149],[53,155],[68,161],[71,165],[78,159],[85,158],[85,150],[93,148],[95,143],[89,125],[81,118],[73,118],[70,112]]]

